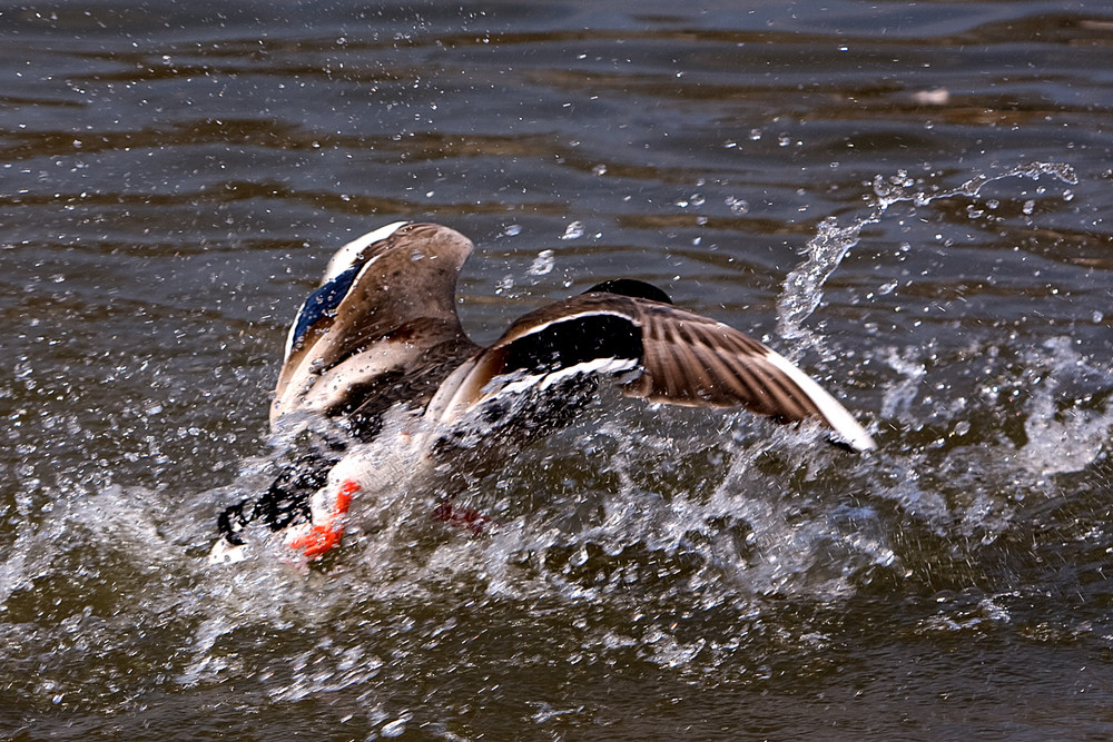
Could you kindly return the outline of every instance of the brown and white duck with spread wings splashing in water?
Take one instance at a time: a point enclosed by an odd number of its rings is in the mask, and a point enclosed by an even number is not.
[[[333,256],[289,327],[269,410],[276,435],[312,429],[315,444],[265,493],[220,513],[211,562],[245,558],[253,524],[279,533],[297,558],[321,558],[341,543],[354,508],[374,507],[376,492],[418,486],[462,459],[490,471],[579,419],[603,383],[647,403],[812,421],[845,448],[876,448],[787,358],[641,280],[595,284],[477,345],[456,313],[456,281],[473,249],[450,227],[395,221]],[[476,534],[490,525],[451,497],[433,515]]]

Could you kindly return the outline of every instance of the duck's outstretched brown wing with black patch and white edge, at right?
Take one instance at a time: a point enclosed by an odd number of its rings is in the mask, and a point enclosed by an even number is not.
[[[501,395],[578,375],[634,373],[623,392],[674,405],[815,418],[859,451],[873,438],[807,374],[720,321],[642,296],[590,291],[525,315],[457,369],[430,405],[451,423]]]

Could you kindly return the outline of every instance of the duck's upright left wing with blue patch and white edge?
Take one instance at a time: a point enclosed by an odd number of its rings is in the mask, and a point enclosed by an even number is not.
[[[456,316],[456,277],[472,251],[460,233],[395,222],[339,249],[324,281],[297,313],[272,424],[309,409],[326,415],[388,406],[439,384],[452,359],[475,352]],[[404,384],[398,384],[404,380]]]

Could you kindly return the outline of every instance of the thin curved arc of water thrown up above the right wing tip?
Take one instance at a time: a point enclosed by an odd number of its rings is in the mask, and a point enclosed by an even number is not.
[[[1074,169],[1061,162],[1030,162],[998,175],[979,174],[957,188],[943,189],[936,186],[930,192],[913,190],[916,181],[903,172],[888,180],[876,176],[875,200],[869,214],[856,218],[846,227],[839,226],[835,217],[824,219],[817,228],[816,236],[808,240],[804,249],[807,259],[785,278],[784,289],[777,300],[779,317],[777,332],[786,339],[796,340],[794,358],[799,357],[807,348],[823,350],[819,335],[804,327],[804,323],[819,307],[824,298],[824,284],[835,273],[850,248],[858,244],[861,229],[867,225],[878,224],[889,207],[902,202],[923,207],[955,196],[976,198],[982,188],[988,184],[1016,177],[1038,180],[1043,176],[1051,176],[1072,186],[1078,182]],[[1064,198],[1068,196],[1064,195]]]

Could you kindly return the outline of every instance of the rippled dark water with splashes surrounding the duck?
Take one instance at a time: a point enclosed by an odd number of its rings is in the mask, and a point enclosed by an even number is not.
[[[0,6],[0,731],[1104,738],[1113,12],[1051,2]],[[1034,165],[1038,164],[1038,165]],[[1036,177],[1038,176],[1038,177]],[[604,393],[324,564],[209,567],[286,324],[400,218],[461,314],[603,278],[870,426]]]

